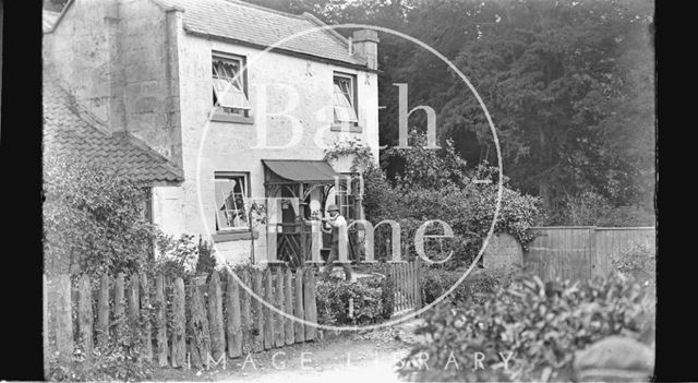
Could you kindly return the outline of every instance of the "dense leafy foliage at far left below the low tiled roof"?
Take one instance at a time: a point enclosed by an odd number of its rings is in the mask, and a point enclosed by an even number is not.
[[[140,270],[158,230],[144,214],[147,190],[119,173],[47,156],[44,161],[47,273]]]

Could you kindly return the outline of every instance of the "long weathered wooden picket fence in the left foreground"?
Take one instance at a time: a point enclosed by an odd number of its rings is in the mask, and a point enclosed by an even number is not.
[[[238,277],[269,306],[317,322],[314,268],[292,272],[275,265]],[[315,326],[272,310],[226,272],[214,272],[208,284],[198,285],[139,274],[105,275],[94,284],[83,276],[77,286],[68,275],[44,280],[45,356],[62,360],[69,360],[74,347],[89,356],[122,326],[141,326],[151,339],[142,355],[160,367],[208,367],[225,356],[239,358],[317,337]],[[146,315],[151,311],[154,315]]]

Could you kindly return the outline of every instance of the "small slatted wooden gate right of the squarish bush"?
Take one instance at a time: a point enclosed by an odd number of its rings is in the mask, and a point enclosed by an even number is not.
[[[390,262],[386,275],[395,286],[395,310],[393,316],[406,315],[422,308],[421,262],[419,256],[411,262]]]

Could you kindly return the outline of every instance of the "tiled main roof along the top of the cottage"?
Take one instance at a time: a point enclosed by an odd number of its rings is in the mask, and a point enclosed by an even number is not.
[[[238,0],[155,0],[163,7],[184,10],[184,28],[203,35],[230,38],[269,47],[300,32],[324,26],[305,13],[296,15],[249,4]],[[313,31],[285,41],[278,48],[297,53],[365,65],[349,55],[347,39],[333,29]]]

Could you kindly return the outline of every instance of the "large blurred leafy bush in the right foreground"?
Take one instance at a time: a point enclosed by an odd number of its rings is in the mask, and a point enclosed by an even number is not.
[[[488,294],[483,304],[437,306],[417,331],[428,340],[402,360],[400,374],[419,381],[569,381],[574,352],[601,338],[653,342],[654,304],[647,292],[618,274],[587,284],[520,276]],[[473,369],[474,352],[484,355],[483,369]],[[426,368],[418,362],[424,355]]]

